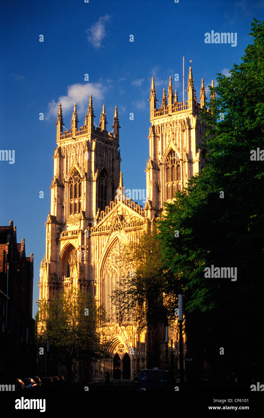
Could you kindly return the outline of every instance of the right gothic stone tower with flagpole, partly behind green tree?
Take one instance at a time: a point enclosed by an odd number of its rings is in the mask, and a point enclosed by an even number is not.
[[[191,67],[188,75],[188,99],[178,102],[173,93],[171,77],[168,94],[163,89],[161,107],[157,109],[157,97],[152,77],[150,90],[150,157],[147,160],[147,191],[150,217],[161,213],[163,202],[171,202],[176,191],[183,190],[187,180],[201,171],[205,164],[203,134],[205,126],[200,113],[205,106],[205,88],[201,85],[201,102],[196,99]],[[167,102],[168,99],[168,102]]]

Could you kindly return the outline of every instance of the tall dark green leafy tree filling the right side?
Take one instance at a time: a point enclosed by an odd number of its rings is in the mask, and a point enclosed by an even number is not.
[[[218,74],[217,87],[210,87],[216,98],[201,115],[211,126],[206,167],[164,205],[158,223],[164,268],[180,280],[190,328],[204,325],[215,362],[221,346],[230,361],[260,359],[264,161],[251,161],[251,155],[264,148],[264,22],[254,19],[251,26],[253,44],[230,76]],[[211,265],[237,268],[237,280],[205,278]]]

